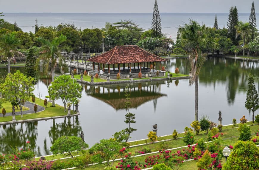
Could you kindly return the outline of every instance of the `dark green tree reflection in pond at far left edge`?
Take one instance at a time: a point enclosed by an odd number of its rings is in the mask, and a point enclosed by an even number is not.
[[[38,136],[38,122],[26,122],[6,125],[0,135],[0,151],[10,153],[11,147],[23,148],[30,141],[31,149],[36,151],[36,140]],[[25,126],[25,127],[24,127]]]

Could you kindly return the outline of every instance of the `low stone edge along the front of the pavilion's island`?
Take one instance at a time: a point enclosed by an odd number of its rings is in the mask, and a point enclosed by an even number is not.
[[[120,83],[137,83],[137,82],[146,82],[146,81],[161,81],[161,80],[179,80],[179,79],[189,79],[191,76],[182,76],[182,77],[167,77],[167,78],[152,78],[152,79],[140,79],[140,80],[121,80],[121,81],[103,81],[103,82],[89,82],[84,80],[75,79],[79,83],[84,83],[88,85],[102,85],[102,84],[120,84]]]

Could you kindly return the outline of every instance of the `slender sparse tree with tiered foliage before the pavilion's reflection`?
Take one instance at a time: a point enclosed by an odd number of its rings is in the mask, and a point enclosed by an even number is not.
[[[127,110],[127,114],[125,115],[126,120],[124,120],[124,122],[129,124],[129,127],[124,129],[125,132],[127,132],[129,134],[128,138],[126,139],[126,142],[127,142],[129,140],[130,134],[132,132],[136,131],[137,129],[130,127],[130,124],[136,123],[136,121],[134,120],[135,114],[129,112],[129,106],[131,105],[131,102],[130,102],[130,98],[129,98],[129,88],[128,87],[126,87],[125,93],[126,93],[125,94],[125,97],[126,97],[125,108]]]

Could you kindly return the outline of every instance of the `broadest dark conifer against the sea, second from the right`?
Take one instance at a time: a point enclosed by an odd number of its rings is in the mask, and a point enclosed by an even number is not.
[[[238,24],[238,10],[235,7],[231,7],[229,10],[228,21],[227,21],[227,29],[228,29],[228,37],[233,41],[233,44],[238,45],[239,37],[236,38],[236,28],[235,26]]]

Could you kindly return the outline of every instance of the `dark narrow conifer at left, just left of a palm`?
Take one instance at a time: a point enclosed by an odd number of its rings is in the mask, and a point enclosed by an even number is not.
[[[35,77],[36,70],[35,70],[35,57],[33,56],[33,49],[29,49],[29,54],[26,58],[26,64],[25,64],[25,75],[27,77]]]

